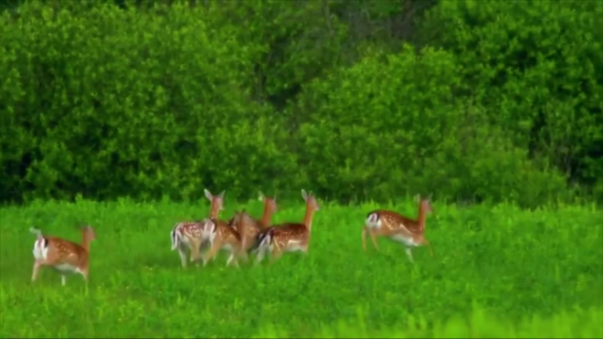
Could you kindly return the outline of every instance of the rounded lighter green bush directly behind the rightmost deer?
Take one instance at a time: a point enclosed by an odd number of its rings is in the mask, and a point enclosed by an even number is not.
[[[455,58],[424,48],[364,58],[304,91],[300,155],[324,196],[428,194],[534,206],[565,194],[485,111],[460,102]],[[324,164],[330,171],[323,171]]]

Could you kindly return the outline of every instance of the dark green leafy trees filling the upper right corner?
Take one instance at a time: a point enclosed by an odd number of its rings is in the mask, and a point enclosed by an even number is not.
[[[598,1],[443,0],[419,31],[457,56],[463,92],[491,108],[515,145],[602,185],[601,27]]]

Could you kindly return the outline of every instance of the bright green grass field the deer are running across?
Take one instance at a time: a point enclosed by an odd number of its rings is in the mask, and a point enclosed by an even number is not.
[[[380,239],[363,252],[361,228],[374,205],[323,203],[310,255],[286,253],[273,265],[182,270],[170,251],[181,219],[198,205],[129,201],[36,203],[0,209],[1,337],[602,337],[603,214],[597,207],[534,211],[433,203],[427,238],[435,252]],[[221,217],[261,203],[226,201]],[[408,199],[394,208],[411,217]],[[273,222],[297,221],[303,200],[279,206]],[[80,240],[96,229],[90,285],[60,286],[45,269],[30,282],[35,236]]]

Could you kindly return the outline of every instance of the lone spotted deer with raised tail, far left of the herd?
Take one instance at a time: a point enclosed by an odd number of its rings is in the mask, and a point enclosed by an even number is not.
[[[79,273],[88,283],[90,270],[90,242],[96,238],[94,229],[86,226],[81,229],[81,244],[58,238],[44,236],[38,228],[29,228],[37,236],[34,243],[34,271],[31,281],[37,280],[42,266],[49,266],[61,274],[61,284],[67,283],[67,275]]]

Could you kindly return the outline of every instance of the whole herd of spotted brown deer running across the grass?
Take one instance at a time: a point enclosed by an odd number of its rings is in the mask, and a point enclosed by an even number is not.
[[[183,268],[186,268],[187,252],[190,261],[198,263],[203,260],[205,266],[209,260],[215,260],[219,250],[225,250],[229,256],[227,266],[238,267],[238,260],[249,260],[249,254],[256,255],[258,265],[270,252],[271,262],[278,259],[284,252],[302,251],[308,254],[312,235],[312,216],[320,209],[316,198],[302,190],[306,203],[306,211],[302,222],[286,222],[271,225],[272,216],[278,211],[276,197],[264,196],[259,193],[259,199],[264,203],[261,217],[255,218],[243,209],[236,211],[228,221],[220,219],[219,213],[224,210],[225,191],[217,196],[205,190],[207,199],[211,201],[209,217],[196,221],[177,222],[170,232],[172,250],[177,249]],[[425,238],[425,219],[432,211],[430,198],[420,198],[418,201],[418,217],[412,219],[397,212],[376,209],[368,213],[362,230],[362,246],[366,250],[366,236],[370,236],[376,250],[378,237],[391,238],[406,248],[408,260],[414,262],[412,249],[418,246],[428,246],[433,256],[428,239]],[[57,270],[61,275],[62,285],[67,282],[68,274],[79,273],[88,282],[90,268],[90,242],[95,238],[90,226],[81,229],[80,244],[64,238],[43,235],[37,228],[30,228],[36,234],[34,243],[34,269],[31,281],[37,280],[38,271],[42,266]],[[203,245],[208,245],[206,253],[201,254]]]

